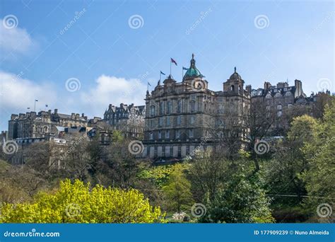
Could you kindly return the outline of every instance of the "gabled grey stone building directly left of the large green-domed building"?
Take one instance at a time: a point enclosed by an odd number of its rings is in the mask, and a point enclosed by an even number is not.
[[[112,129],[124,132],[126,137],[141,137],[143,135],[145,106],[135,106],[121,103],[119,107],[110,104],[105,110],[103,121]],[[101,122],[98,126],[102,126]]]

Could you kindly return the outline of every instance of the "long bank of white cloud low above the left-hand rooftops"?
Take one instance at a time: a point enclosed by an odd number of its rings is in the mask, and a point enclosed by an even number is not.
[[[0,128],[7,129],[7,121],[12,113],[25,113],[27,108],[36,112],[58,108],[59,113],[85,113],[89,118],[102,117],[110,103],[144,105],[146,84],[140,79],[124,79],[101,75],[95,80],[93,88],[81,83],[78,91],[67,91],[61,86],[54,86],[52,81],[37,83],[25,79],[25,74],[13,74],[0,70]],[[59,89],[60,88],[60,89]],[[58,90],[57,90],[58,89]],[[48,109],[47,108],[47,109]]]

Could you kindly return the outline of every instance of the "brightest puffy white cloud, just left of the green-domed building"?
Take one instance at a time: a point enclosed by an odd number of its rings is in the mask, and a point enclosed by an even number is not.
[[[81,94],[81,101],[90,105],[94,115],[102,116],[108,104],[120,103],[144,105],[146,85],[139,79],[124,79],[101,75],[95,80],[97,86]]]

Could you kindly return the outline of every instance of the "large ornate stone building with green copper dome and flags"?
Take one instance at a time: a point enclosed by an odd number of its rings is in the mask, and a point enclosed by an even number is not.
[[[241,124],[241,117],[249,112],[250,96],[236,68],[223,82],[222,91],[211,91],[195,62],[192,54],[181,82],[170,75],[163,83],[159,81],[151,93],[147,91],[142,156],[183,158],[195,149],[220,149],[225,129],[232,123],[228,120],[232,116],[226,115],[228,110],[237,114],[235,124]],[[241,128],[228,136],[243,142],[248,132],[247,128]]]

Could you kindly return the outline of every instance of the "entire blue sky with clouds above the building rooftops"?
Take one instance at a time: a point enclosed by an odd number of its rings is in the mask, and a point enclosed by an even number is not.
[[[37,111],[89,117],[109,103],[141,105],[170,57],[180,81],[192,53],[214,91],[237,67],[253,88],[300,79],[307,95],[335,92],[334,16],[334,1],[3,0],[0,129],[35,98]]]

